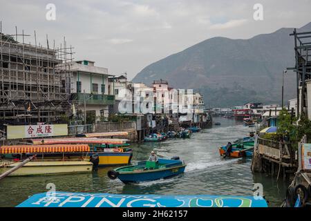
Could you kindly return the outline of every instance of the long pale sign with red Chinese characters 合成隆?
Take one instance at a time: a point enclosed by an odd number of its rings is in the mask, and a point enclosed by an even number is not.
[[[8,139],[54,137],[68,135],[67,124],[8,126]]]

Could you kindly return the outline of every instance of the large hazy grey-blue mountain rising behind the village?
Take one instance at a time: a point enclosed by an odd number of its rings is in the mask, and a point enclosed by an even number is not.
[[[311,31],[311,22],[298,31]],[[214,37],[144,68],[133,82],[165,79],[174,88],[193,88],[211,107],[246,102],[281,103],[282,73],[294,66],[293,28],[251,39]],[[285,101],[296,97],[296,75],[285,74]],[[286,102],[285,102],[286,104]]]

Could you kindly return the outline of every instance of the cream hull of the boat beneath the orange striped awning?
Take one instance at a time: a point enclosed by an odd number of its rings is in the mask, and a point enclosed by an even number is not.
[[[14,162],[0,168],[0,173],[4,173],[21,162]],[[9,176],[26,175],[57,175],[70,173],[90,173],[93,164],[86,161],[48,161],[48,162],[28,162],[17,171],[10,173]]]

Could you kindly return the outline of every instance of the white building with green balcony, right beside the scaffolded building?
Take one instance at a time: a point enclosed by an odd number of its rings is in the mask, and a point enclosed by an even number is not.
[[[94,66],[94,61],[82,60],[70,64],[72,72],[71,99],[77,101],[84,121],[93,124],[109,117],[109,105],[115,104],[115,96],[109,95],[107,68]],[[86,113],[86,115],[85,115]]]

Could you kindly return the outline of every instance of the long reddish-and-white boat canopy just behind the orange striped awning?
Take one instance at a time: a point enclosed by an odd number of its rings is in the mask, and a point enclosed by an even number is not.
[[[125,144],[128,140],[109,138],[53,138],[53,139],[32,139],[32,144]]]

